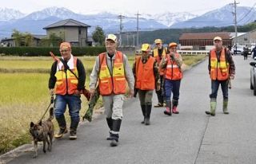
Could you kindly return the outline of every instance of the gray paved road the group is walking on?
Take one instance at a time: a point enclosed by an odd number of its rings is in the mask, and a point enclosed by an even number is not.
[[[215,117],[205,115],[210,105],[207,61],[185,72],[179,115],[163,115],[153,108],[151,125],[144,126],[138,99],[125,103],[120,142],[110,147],[103,115],[78,129],[78,139],[54,141],[52,152],[38,158],[26,152],[10,163],[256,163],[256,107],[250,91],[250,65],[234,57],[236,79],[230,90],[230,115],[222,114],[218,92]],[[154,103],[157,98],[154,95]]]

